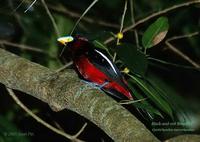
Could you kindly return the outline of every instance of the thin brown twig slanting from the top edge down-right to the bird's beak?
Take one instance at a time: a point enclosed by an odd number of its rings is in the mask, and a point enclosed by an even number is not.
[[[54,19],[53,16],[52,16],[51,12],[49,11],[49,8],[48,8],[48,6],[47,6],[45,0],[41,0],[41,2],[42,2],[43,6],[44,6],[44,8],[45,8],[45,10],[46,10],[46,12],[47,12],[47,15],[49,16],[49,18],[50,18],[50,20],[51,20],[51,22],[52,22],[52,24],[53,24],[53,27],[54,27],[54,30],[55,30],[55,32],[56,32],[57,37],[60,37],[60,32],[59,32],[59,30],[58,30],[58,26],[57,26],[57,24],[56,24],[56,22],[55,22],[55,19]]]

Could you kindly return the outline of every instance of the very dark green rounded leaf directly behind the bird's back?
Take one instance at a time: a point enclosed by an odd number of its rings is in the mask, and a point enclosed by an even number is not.
[[[146,56],[137,50],[133,44],[122,43],[116,47],[116,52],[124,64],[136,74],[145,75],[147,70]]]

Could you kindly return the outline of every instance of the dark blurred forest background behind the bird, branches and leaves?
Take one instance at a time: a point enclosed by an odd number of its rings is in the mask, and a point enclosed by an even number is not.
[[[84,12],[91,4],[91,0],[46,0],[46,4],[55,19],[58,27],[56,32],[44,5],[40,0],[27,10],[31,0],[0,0],[0,48],[4,48],[23,58],[39,63],[51,69],[58,69],[63,65],[59,59],[62,47],[57,43],[59,36],[69,34]],[[132,1],[135,21],[188,0],[140,0]],[[75,29],[75,33],[86,34],[95,39],[105,39],[104,32],[119,32],[121,16],[124,9],[123,0],[99,0]],[[26,11],[26,12],[25,12]],[[200,29],[200,4],[183,7],[164,14],[169,19],[167,38],[198,32]],[[125,16],[124,27],[132,24],[130,3]],[[137,29],[139,44],[148,25],[154,22],[152,18],[139,25]],[[124,42],[136,44],[134,32],[130,30],[124,35]],[[173,45],[200,64],[200,38],[196,35],[191,38],[175,40]],[[112,45],[112,44],[110,44]],[[200,72],[183,58],[166,48],[164,42],[148,50],[148,54],[155,59],[175,63],[179,66],[149,63],[148,72],[151,72],[155,82],[160,84],[169,94],[176,94],[184,102],[187,114],[193,124],[192,131],[153,132],[161,140],[184,133],[199,134],[200,132]],[[184,66],[184,67],[182,67]],[[190,66],[190,67],[188,67]],[[151,76],[151,77],[152,77]],[[85,122],[88,126],[80,135],[85,141],[112,141],[102,130],[87,119],[69,110],[53,112],[49,106],[27,94],[15,91],[20,100],[35,114],[46,122],[59,124],[66,133],[75,134]],[[151,122],[145,123],[152,130]],[[123,130],[122,130],[123,131]],[[125,130],[124,130],[125,131]],[[21,135],[6,136],[5,132],[20,132]],[[37,123],[27,115],[8,95],[4,85],[0,84],[0,142],[34,142],[34,141],[68,141],[62,136]]]

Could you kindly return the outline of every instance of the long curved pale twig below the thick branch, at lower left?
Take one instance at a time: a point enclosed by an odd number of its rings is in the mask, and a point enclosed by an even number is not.
[[[48,129],[52,130],[53,132],[64,136],[67,139],[73,140],[73,141],[79,141],[81,142],[82,140],[77,139],[77,137],[74,137],[72,135],[69,135],[55,127],[53,127],[52,125],[48,124],[47,122],[45,122],[44,120],[42,120],[40,117],[38,117],[37,115],[35,115],[31,110],[29,110],[19,99],[18,97],[15,95],[15,93],[13,92],[12,89],[6,88],[9,95],[13,98],[13,100],[26,112],[28,113],[32,118],[34,118],[37,122],[39,122],[40,124],[44,125],[45,127],[47,127]],[[85,126],[85,125],[84,125]],[[83,131],[83,130],[82,130]],[[79,133],[79,132],[78,132]]]

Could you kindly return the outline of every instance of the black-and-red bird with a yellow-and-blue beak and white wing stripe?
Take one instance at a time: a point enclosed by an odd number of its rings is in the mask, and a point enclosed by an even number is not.
[[[58,41],[67,46],[81,78],[96,84],[117,99],[133,99],[127,82],[116,65],[87,38],[80,35],[65,36],[58,38]],[[62,57],[65,58],[65,55]]]

